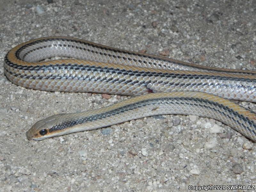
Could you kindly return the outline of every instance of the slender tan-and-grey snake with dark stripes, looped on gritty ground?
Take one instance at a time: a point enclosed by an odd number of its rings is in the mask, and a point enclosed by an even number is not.
[[[62,59],[52,59],[57,56]],[[50,36],[13,47],[4,57],[4,73],[16,85],[41,91],[132,96],[107,107],[39,120],[26,132],[28,140],[180,114],[215,119],[256,141],[256,114],[232,101],[256,102],[255,71],[208,67]]]

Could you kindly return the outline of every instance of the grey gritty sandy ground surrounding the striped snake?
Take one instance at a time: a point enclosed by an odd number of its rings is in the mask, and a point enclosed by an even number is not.
[[[28,141],[25,132],[41,118],[100,108],[126,97],[29,90],[6,79],[3,68],[5,54],[17,44],[73,36],[207,66],[254,69],[255,0],[8,2],[0,1],[0,191],[189,191],[190,185],[224,185],[226,190],[228,185],[255,185],[255,143],[207,118],[154,116]]]

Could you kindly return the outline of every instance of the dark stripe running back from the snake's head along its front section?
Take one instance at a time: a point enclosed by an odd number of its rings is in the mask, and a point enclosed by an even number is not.
[[[198,103],[196,103],[195,100],[198,101]],[[148,105],[154,105],[154,104],[178,104],[178,105],[187,104],[187,105],[192,105],[192,106],[194,105],[194,106],[209,108],[209,110],[215,110],[215,111],[218,111],[219,113],[221,113],[224,116],[228,116],[236,124],[239,124],[240,126],[243,126],[245,129],[248,129],[249,131],[251,131],[246,125],[240,123],[239,120],[237,121],[236,118],[231,117],[230,113],[233,113],[233,115],[235,117],[238,117],[239,119],[243,119],[243,121],[247,122],[250,126],[255,126],[253,121],[248,119],[248,117],[246,117],[244,115],[241,115],[241,114],[239,114],[239,112],[234,111],[233,109],[230,109],[228,106],[225,106],[225,105],[220,104],[218,102],[213,102],[211,100],[206,100],[206,99],[191,98],[191,97],[189,97],[189,98],[185,98],[185,97],[174,97],[174,98],[172,98],[171,97],[171,98],[157,98],[157,99],[143,100],[143,101],[140,101],[140,102],[132,103],[132,104],[120,107],[120,108],[110,110],[110,111],[105,112],[105,113],[100,113],[100,114],[97,114],[97,115],[87,116],[87,117],[77,119],[77,120],[74,120],[74,121],[67,121],[67,122],[64,122],[60,125],[55,125],[51,129],[49,129],[49,132],[58,131],[58,130],[66,129],[66,128],[71,128],[74,125],[96,121],[98,119],[103,119],[103,118],[106,118],[106,117],[115,116],[117,114],[124,113],[124,112],[129,111],[129,110],[145,107],[145,106],[148,106]],[[211,107],[212,105],[214,107]],[[222,108],[224,110],[224,112],[222,112],[221,110],[217,110],[216,107]],[[256,134],[255,129],[256,129],[256,127],[254,127],[254,129],[252,129],[252,132],[254,134]]]

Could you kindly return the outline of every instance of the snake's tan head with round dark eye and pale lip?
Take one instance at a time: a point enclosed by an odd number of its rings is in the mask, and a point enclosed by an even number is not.
[[[37,121],[26,132],[28,140],[43,140],[52,137],[54,133],[51,133],[51,128],[59,124],[57,119],[60,119],[59,117],[61,115],[63,114],[53,115],[40,121]]]

